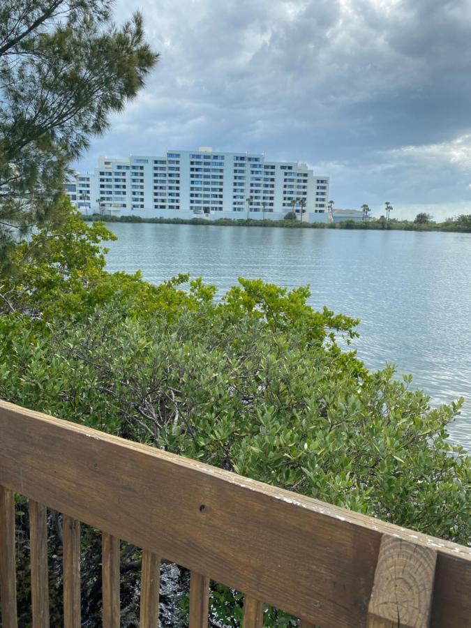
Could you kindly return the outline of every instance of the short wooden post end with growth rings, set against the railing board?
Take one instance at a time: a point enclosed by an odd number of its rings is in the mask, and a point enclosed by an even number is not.
[[[368,606],[368,628],[428,628],[436,560],[432,548],[384,534]]]

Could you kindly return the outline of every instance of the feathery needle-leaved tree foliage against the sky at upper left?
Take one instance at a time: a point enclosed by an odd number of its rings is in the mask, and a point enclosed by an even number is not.
[[[0,253],[60,204],[70,160],[144,84],[157,55],[142,16],[111,22],[109,0],[0,4]]]

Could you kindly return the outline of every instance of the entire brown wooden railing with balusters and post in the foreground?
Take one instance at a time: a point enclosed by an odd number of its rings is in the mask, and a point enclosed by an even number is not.
[[[471,550],[193,460],[0,402],[0,595],[17,627],[15,493],[29,498],[34,628],[48,626],[46,507],[63,513],[64,626],[79,628],[80,521],[103,530],[103,626],[119,626],[119,539],[142,548],[140,626],[158,621],[160,560],[187,567],[191,628],[209,581],[303,628],[471,626]],[[98,559],[99,560],[99,559]]]

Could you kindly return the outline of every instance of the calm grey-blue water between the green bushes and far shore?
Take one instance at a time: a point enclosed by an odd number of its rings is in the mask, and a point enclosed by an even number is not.
[[[369,368],[412,373],[434,404],[464,396],[454,440],[471,449],[471,234],[114,223],[107,269],[160,283],[180,272],[223,291],[237,277],[309,284],[311,305],[361,319]]]

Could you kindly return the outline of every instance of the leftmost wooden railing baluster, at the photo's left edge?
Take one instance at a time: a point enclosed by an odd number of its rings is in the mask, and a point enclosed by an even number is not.
[[[15,493],[0,486],[1,625],[17,628],[15,567]]]

